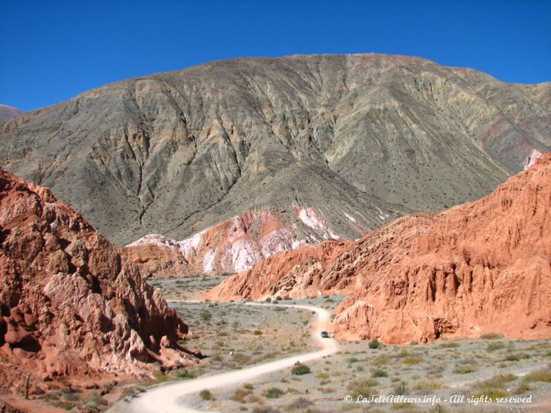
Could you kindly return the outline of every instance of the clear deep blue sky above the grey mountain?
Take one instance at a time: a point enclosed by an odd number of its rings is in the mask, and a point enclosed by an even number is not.
[[[361,52],[551,81],[551,1],[0,0],[0,103],[23,110],[212,60]]]

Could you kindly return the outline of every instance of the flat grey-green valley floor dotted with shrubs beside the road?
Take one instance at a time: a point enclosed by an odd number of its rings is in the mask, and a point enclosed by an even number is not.
[[[210,357],[158,381],[209,377],[223,371],[273,361],[311,349],[309,311],[237,303],[185,303],[194,292],[219,282],[211,277],[153,282],[193,332],[185,343]],[[280,304],[332,310],[343,297],[284,300]],[[207,315],[207,313],[209,315]],[[551,410],[551,340],[522,341],[489,336],[477,340],[439,339],[425,345],[379,346],[340,341],[340,351],[306,363],[311,372],[291,368],[244,379],[238,385],[189,394],[185,405],[218,412],[548,412]],[[373,345],[372,345],[373,347]],[[139,397],[143,386],[128,392]],[[435,403],[357,403],[358,396],[439,398]],[[462,403],[450,403],[464,395]],[[474,396],[474,399],[472,397]],[[492,398],[481,403],[480,396]],[[530,403],[496,403],[509,396]],[[347,403],[349,399],[351,402]],[[469,399],[471,398],[471,399]],[[503,399],[503,401],[506,399]],[[360,401],[362,399],[360,398]],[[124,412],[119,403],[114,411]],[[159,410],[161,411],[161,410]]]

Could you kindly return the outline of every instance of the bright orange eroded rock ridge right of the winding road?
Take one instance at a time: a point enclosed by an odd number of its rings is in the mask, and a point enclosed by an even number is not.
[[[362,240],[279,253],[205,299],[348,294],[335,334],[389,343],[551,335],[551,152],[488,197]]]

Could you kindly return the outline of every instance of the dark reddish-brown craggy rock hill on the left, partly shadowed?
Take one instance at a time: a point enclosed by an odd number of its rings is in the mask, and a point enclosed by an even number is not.
[[[81,215],[0,169],[0,386],[191,362],[187,326]]]

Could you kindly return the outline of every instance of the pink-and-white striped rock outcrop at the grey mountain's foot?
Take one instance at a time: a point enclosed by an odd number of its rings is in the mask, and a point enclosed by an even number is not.
[[[286,211],[247,212],[220,222],[183,241],[163,235],[145,237],[121,248],[145,275],[154,278],[236,273],[280,251],[338,238],[322,213],[297,207]]]

